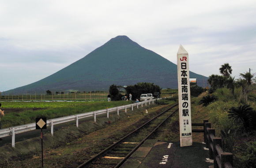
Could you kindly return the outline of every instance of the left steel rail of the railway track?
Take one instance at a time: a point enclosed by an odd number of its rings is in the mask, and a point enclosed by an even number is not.
[[[147,121],[146,123],[144,123],[143,125],[141,125],[139,128],[137,128],[136,130],[132,131],[131,133],[129,133],[128,135],[125,135],[123,138],[119,139],[117,142],[113,143],[111,146],[105,148],[105,150],[102,150],[101,152],[99,152],[98,154],[94,155],[92,158],[90,158],[89,160],[87,160],[86,162],[84,162],[83,164],[80,164],[77,168],[86,168],[91,162],[93,162],[94,160],[96,160],[98,157],[102,156],[104,153],[108,152],[109,150],[113,149],[115,146],[117,146],[120,142],[122,142],[124,139],[128,138],[130,135],[134,134],[135,132],[139,131],[141,128],[143,128],[145,125],[149,124],[151,121],[153,121],[154,119],[158,118],[159,116],[161,116],[162,114],[166,113],[167,111],[169,111],[170,109],[172,109],[174,106],[177,106],[177,104],[169,107],[167,110],[163,111],[162,113],[158,114],[157,116],[155,116],[154,118],[152,118],[151,120]]]

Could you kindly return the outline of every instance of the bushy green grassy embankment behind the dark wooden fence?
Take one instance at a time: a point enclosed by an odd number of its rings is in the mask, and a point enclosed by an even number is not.
[[[236,167],[250,168],[248,167],[248,162],[252,161],[252,156],[250,157],[251,159],[248,159],[250,154],[248,154],[248,146],[246,143],[256,143],[256,129],[251,128],[250,130],[246,130],[242,121],[230,119],[228,114],[232,107],[237,108],[245,104],[250,105],[256,110],[256,89],[254,88],[249,93],[248,102],[246,103],[239,100],[240,93],[241,88],[235,89],[234,96],[229,89],[219,88],[211,94],[215,95],[218,100],[211,102],[208,106],[202,106],[199,105],[200,99],[202,99],[203,96],[210,95],[205,92],[198,98],[192,99],[192,112],[202,114],[203,118],[200,117],[201,122],[203,119],[209,119],[212,127],[215,128],[216,136],[225,139],[222,142],[224,150],[234,154],[234,165],[236,165]],[[252,148],[251,151],[251,155],[255,155],[255,147]],[[254,163],[256,163],[255,156]]]

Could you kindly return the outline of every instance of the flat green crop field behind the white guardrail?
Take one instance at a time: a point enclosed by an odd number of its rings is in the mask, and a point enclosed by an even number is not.
[[[1,118],[2,128],[15,125],[28,124],[37,117],[47,119],[64,117],[79,113],[122,106],[132,103],[131,101],[115,102],[1,102],[5,116]],[[13,108],[21,108],[18,112],[11,112]],[[33,108],[45,108],[33,110]]]

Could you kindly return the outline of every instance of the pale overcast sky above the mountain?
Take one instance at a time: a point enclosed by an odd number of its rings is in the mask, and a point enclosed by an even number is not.
[[[0,0],[0,91],[45,78],[118,35],[190,70],[256,72],[256,0]]]

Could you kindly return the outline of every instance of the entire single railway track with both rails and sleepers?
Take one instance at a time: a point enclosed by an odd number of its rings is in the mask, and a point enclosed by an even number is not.
[[[150,121],[124,136],[113,145],[94,155],[90,160],[79,165],[77,168],[119,168],[124,161],[134,153],[139,146],[153,134],[164,121],[172,116],[175,104],[153,117]]]

